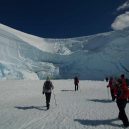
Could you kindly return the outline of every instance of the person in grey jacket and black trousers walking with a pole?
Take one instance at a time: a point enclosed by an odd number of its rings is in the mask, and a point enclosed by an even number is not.
[[[50,78],[47,77],[46,81],[44,82],[43,91],[42,91],[42,93],[43,94],[45,93],[45,96],[46,96],[46,107],[47,107],[47,109],[50,108],[51,92],[52,92],[53,89],[54,89],[54,86],[53,86],[52,82],[50,81]]]

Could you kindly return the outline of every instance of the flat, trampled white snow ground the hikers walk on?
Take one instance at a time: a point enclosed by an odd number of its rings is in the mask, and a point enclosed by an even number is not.
[[[52,80],[50,110],[45,107],[43,82],[0,81],[0,129],[123,128],[116,103],[108,97],[107,82],[80,80],[75,92],[73,80]],[[127,104],[127,116],[128,108]]]

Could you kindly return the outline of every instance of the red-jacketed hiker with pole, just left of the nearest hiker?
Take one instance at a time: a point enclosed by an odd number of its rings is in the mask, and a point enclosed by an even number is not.
[[[112,101],[114,101],[115,100],[115,96],[114,96],[115,80],[113,79],[113,77],[110,77],[110,79],[109,79],[109,83],[107,85],[107,88],[109,88],[109,87],[110,87]]]

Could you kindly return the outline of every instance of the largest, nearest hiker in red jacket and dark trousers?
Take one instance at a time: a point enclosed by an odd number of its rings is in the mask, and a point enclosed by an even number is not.
[[[119,109],[118,119],[122,120],[124,127],[128,127],[129,121],[125,113],[125,107],[129,98],[129,91],[128,87],[125,86],[125,83],[123,82],[123,75],[121,78],[122,79],[117,80],[114,94],[116,96],[116,103]]]

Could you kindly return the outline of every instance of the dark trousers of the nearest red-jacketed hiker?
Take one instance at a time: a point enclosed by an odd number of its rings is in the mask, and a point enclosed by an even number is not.
[[[127,100],[126,99],[117,99],[116,101],[117,103],[117,106],[118,106],[118,109],[119,109],[119,115],[118,115],[118,118],[120,120],[122,120],[124,126],[126,126],[128,124],[128,118],[126,116],[126,113],[125,113],[125,107],[126,107],[126,104],[127,104]]]

